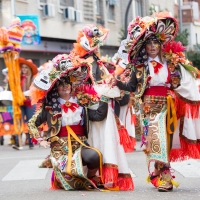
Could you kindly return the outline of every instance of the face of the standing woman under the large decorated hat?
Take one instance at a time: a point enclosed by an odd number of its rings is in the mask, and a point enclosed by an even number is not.
[[[155,58],[160,51],[160,44],[155,40],[149,40],[146,44],[147,55],[151,58]]]

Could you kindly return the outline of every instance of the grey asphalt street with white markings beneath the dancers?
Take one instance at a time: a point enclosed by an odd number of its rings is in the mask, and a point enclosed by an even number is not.
[[[49,154],[49,149],[35,146],[29,150],[14,150],[7,145],[0,146],[0,200],[43,200],[43,199],[70,199],[70,200],[199,200],[200,199],[200,161],[184,161],[172,163],[176,181],[180,183],[173,192],[160,193],[151,184],[147,184],[147,167],[145,155],[137,144],[133,153],[128,153],[127,159],[132,170],[134,191],[99,192],[99,191],[64,191],[49,190],[51,187],[52,169],[38,168],[38,164]]]

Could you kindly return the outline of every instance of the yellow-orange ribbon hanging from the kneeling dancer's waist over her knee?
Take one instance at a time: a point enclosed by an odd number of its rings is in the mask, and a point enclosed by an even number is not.
[[[79,137],[74,133],[74,131],[71,129],[70,126],[66,126],[66,129],[67,129],[67,132],[68,132],[68,162],[67,162],[67,174],[70,174],[71,175],[71,162],[72,162],[72,146],[71,146],[71,136],[78,142],[80,143],[81,145],[89,148],[89,149],[93,149],[95,150],[98,154],[99,154],[99,157],[100,157],[100,167],[99,167],[99,171],[100,171],[100,176],[101,176],[101,179],[102,179],[102,163],[103,163],[103,159],[102,159],[102,154],[99,150],[95,149],[95,148],[92,148],[90,146],[87,146],[85,145],[80,139]],[[102,180],[103,181],[103,180]]]

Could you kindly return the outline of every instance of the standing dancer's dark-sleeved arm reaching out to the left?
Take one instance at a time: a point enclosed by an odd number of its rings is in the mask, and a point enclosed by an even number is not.
[[[136,86],[137,86],[137,79],[136,79],[135,72],[132,71],[131,78],[127,83],[123,83],[121,81],[117,81],[116,86],[120,90],[125,90],[125,91],[129,91],[129,92],[135,92]]]

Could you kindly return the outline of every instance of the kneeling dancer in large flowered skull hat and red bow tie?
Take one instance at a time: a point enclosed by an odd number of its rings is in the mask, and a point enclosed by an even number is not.
[[[93,181],[97,170],[102,175],[102,155],[87,143],[88,120],[102,121],[108,104],[100,101],[96,111],[87,110],[72,91],[84,84],[90,76],[90,65],[84,60],[58,55],[53,60],[51,71],[45,71],[34,80],[31,88],[33,101],[42,102],[40,110],[29,120],[28,126],[33,141],[43,147],[51,147],[53,164],[52,187],[65,190],[97,188]],[[38,89],[40,88],[40,89]],[[93,96],[93,101],[98,98]],[[99,100],[99,99],[98,99]],[[80,104],[79,104],[80,103]],[[47,122],[46,137],[41,137],[38,127]],[[83,166],[87,166],[87,172]]]

